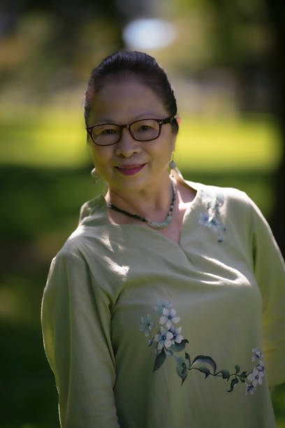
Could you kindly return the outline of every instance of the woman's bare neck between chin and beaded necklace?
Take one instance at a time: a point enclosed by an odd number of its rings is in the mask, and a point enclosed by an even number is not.
[[[158,222],[165,219],[172,198],[173,189],[168,174],[139,190],[121,191],[109,188],[105,197],[106,201],[122,210],[152,218]]]

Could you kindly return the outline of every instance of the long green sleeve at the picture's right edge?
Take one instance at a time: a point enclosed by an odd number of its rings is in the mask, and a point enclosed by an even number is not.
[[[254,273],[263,299],[263,350],[270,386],[285,381],[285,266],[272,231],[251,201]]]

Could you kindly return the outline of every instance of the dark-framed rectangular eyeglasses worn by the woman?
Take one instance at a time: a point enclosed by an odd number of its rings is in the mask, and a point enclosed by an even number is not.
[[[112,145],[118,143],[122,136],[122,129],[129,129],[129,133],[136,141],[152,141],[159,138],[161,126],[173,122],[174,116],[166,119],[141,119],[130,124],[103,123],[87,127],[87,133],[97,145]]]

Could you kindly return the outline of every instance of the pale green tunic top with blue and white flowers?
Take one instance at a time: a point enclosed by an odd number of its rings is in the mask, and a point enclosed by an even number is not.
[[[52,260],[42,324],[61,427],[275,427],[282,256],[246,194],[186,183],[180,244],[109,224],[101,195]]]

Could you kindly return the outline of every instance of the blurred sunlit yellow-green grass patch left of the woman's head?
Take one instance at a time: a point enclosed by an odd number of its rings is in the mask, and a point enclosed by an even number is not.
[[[77,167],[87,163],[88,150],[78,110],[41,108],[1,115],[1,164]]]

